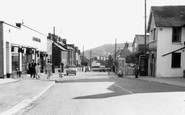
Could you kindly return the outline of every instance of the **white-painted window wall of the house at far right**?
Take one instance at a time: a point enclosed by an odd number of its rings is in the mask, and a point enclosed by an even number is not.
[[[162,55],[182,48],[185,41],[185,28],[182,30],[182,43],[172,43],[172,28],[163,27],[158,28],[158,41],[157,41],[157,65],[156,77],[182,77],[183,70],[185,69],[185,52],[181,52],[181,68],[171,68],[171,54],[162,57]]]

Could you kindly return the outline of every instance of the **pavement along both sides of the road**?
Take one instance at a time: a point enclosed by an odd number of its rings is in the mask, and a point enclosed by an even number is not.
[[[117,75],[112,74],[114,77]],[[147,80],[162,84],[185,87],[185,78],[154,78],[148,76],[125,76],[130,79]],[[53,74],[51,79],[42,73],[40,79],[31,79],[29,75],[22,77],[0,79],[0,115],[12,115],[28,107],[31,103],[50,89],[59,79],[58,73]]]

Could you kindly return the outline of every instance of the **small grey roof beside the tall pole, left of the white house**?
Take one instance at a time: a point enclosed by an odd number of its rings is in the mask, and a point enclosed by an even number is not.
[[[135,35],[133,44],[134,42],[138,43],[138,44],[145,44],[145,35]],[[146,35],[146,44],[149,43],[149,35]]]

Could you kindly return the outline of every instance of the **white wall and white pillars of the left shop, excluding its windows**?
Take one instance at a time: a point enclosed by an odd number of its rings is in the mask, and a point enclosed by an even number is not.
[[[44,52],[47,52],[47,37],[46,36],[43,36],[39,33],[36,33],[32,30],[29,30],[25,27],[21,27],[21,29],[16,29],[12,26],[9,26],[7,24],[3,24],[3,37],[4,37],[4,46],[3,46],[3,49],[4,49],[4,75],[7,73],[7,72],[12,72],[11,71],[11,68],[12,68],[12,62],[11,62],[11,57],[12,57],[12,54],[11,54],[11,44],[17,44],[17,45],[20,45],[20,46],[25,46],[25,47],[33,47],[33,48],[36,48],[37,50],[39,51],[44,51]],[[41,39],[41,42],[36,42],[36,41],[33,41],[33,37],[36,37],[36,38],[39,38]],[[9,43],[9,46],[6,46],[6,42]],[[9,57],[6,56],[6,47],[9,47]],[[20,57],[20,63],[22,63],[22,57]],[[9,69],[10,70],[7,70],[6,68],[6,62],[7,61],[10,61],[9,62]],[[20,65],[20,70],[22,70],[22,65]]]

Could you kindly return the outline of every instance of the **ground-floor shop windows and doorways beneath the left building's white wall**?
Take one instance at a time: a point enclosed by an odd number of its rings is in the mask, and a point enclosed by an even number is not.
[[[6,56],[9,57],[8,54]],[[10,75],[12,75],[13,77],[15,76],[15,74],[20,75],[21,73],[27,73],[28,64],[32,60],[35,60],[36,63],[40,63],[41,72],[44,72],[46,60],[47,58],[49,59],[48,54],[46,52],[38,51],[35,48],[21,47],[21,46],[15,46],[15,45],[11,45],[10,57],[11,59],[7,60],[7,63],[6,63],[7,77],[10,77]]]

